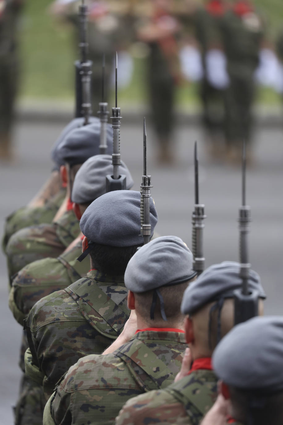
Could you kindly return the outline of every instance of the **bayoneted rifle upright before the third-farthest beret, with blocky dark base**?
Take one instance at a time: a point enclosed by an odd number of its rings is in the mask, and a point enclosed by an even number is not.
[[[113,128],[113,175],[106,176],[106,192],[112,190],[125,190],[126,189],[126,176],[119,174],[119,166],[121,165],[120,156],[120,108],[117,108],[117,69],[118,69],[118,55],[116,52],[115,57],[115,108],[112,108],[112,128]]]

